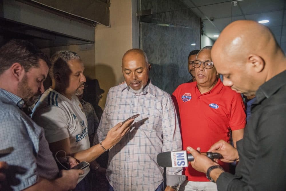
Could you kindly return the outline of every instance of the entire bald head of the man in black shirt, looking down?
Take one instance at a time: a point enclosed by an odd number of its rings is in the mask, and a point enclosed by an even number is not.
[[[285,55],[273,34],[256,21],[235,21],[225,27],[211,57],[224,85],[247,96],[286,69]]]

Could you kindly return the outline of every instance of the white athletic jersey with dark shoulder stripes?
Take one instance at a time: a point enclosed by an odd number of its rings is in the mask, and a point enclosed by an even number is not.
[[[90,148],[87,119],[77,96],[69,100],[47,89],[35,105],[32,119],[44,128],[49,143],[69,138],[71,153]]]

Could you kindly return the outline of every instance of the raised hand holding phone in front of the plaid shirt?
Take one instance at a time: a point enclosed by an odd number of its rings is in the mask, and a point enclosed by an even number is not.
[[[130,126],[134,119],[130,119],[126,121],[124,124],[122,122],[118,123],[116,126],[111,128],[105,140],[102,141],[102,145],[107,150],[110,149],[112,146],[114,146],[116,143],[118,143],[122,137],[130,130]]]

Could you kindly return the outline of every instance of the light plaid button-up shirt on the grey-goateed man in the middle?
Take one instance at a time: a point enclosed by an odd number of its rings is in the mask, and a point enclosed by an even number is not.
[[[152,85],[134,94],[125,84],[110,88],[94,143],[108,130],[132,115],[140,114],[122,140],[109,151],[106,177],[116,191],[156,190],[164,168],[156,162],[161,152],[182,149],[180,129],[171,96]],[[167,168],[167,185],[185,180],[182,168]]]

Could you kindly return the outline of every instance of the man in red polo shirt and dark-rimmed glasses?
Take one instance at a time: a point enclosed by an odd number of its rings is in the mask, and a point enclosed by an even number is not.
[[[197,81],[179,85],[172,94],[180,117],[184,150],[191,146],[207,152],[210,146],[221,139],[230,142],[230,131],[234,146],[243,137],[246,116],[241,95],[224,86],[217,77],[210,56],[211,48],[202,48],[193,61]],[[225,171],[229,170],[228,163],[219,161],[219,164]],[[185,174],[188,179],[180,190],[217,190],[215,183],[191,165],[185,168]]]

